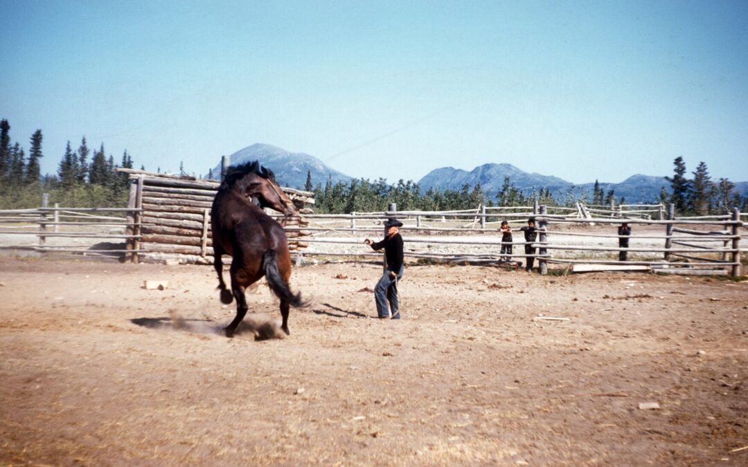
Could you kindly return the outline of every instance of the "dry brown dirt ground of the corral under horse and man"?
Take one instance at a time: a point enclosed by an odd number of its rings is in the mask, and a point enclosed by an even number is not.
[[[0,256],[0,465],[748,465],[748,282],[408,265],[390,321],[380,272],[229,339],[212,267]]]

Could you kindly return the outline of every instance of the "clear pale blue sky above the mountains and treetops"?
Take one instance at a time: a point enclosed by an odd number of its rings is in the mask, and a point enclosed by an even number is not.
[[[252,143],[349,176],[509,163],[748,180],[748,1],[0,0],[0,118],[203,174]]]

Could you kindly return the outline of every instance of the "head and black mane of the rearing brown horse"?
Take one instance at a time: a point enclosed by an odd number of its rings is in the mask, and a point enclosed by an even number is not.
[[[221,188],[233,188],[245,197],[255,197],[263,208],[286,215],[296,214],[293,202],[275,181],[272,170],[260,166],[258,161],[230,167]]]

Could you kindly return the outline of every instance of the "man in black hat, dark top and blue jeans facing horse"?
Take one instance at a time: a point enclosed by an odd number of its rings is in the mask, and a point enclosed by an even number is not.
[[[364,243],[371,245],[374,250],[384,248],[384,258],[387,259],[387,269],[384,270],[379,282],[374,288],[374,300],[379,318],[399,319],[399,300],[397,297],[397,281],[402,277],[403,255],[402,255],[402,237],[399,229],[402,222],[390,217],[384,223],[387,229],[387,235],[384,240],[374,243],[370,238],[364,240]],[[390,302],[390,308],[387,309],[387,301]],[[392,314],[390,315],[390,311]]]

